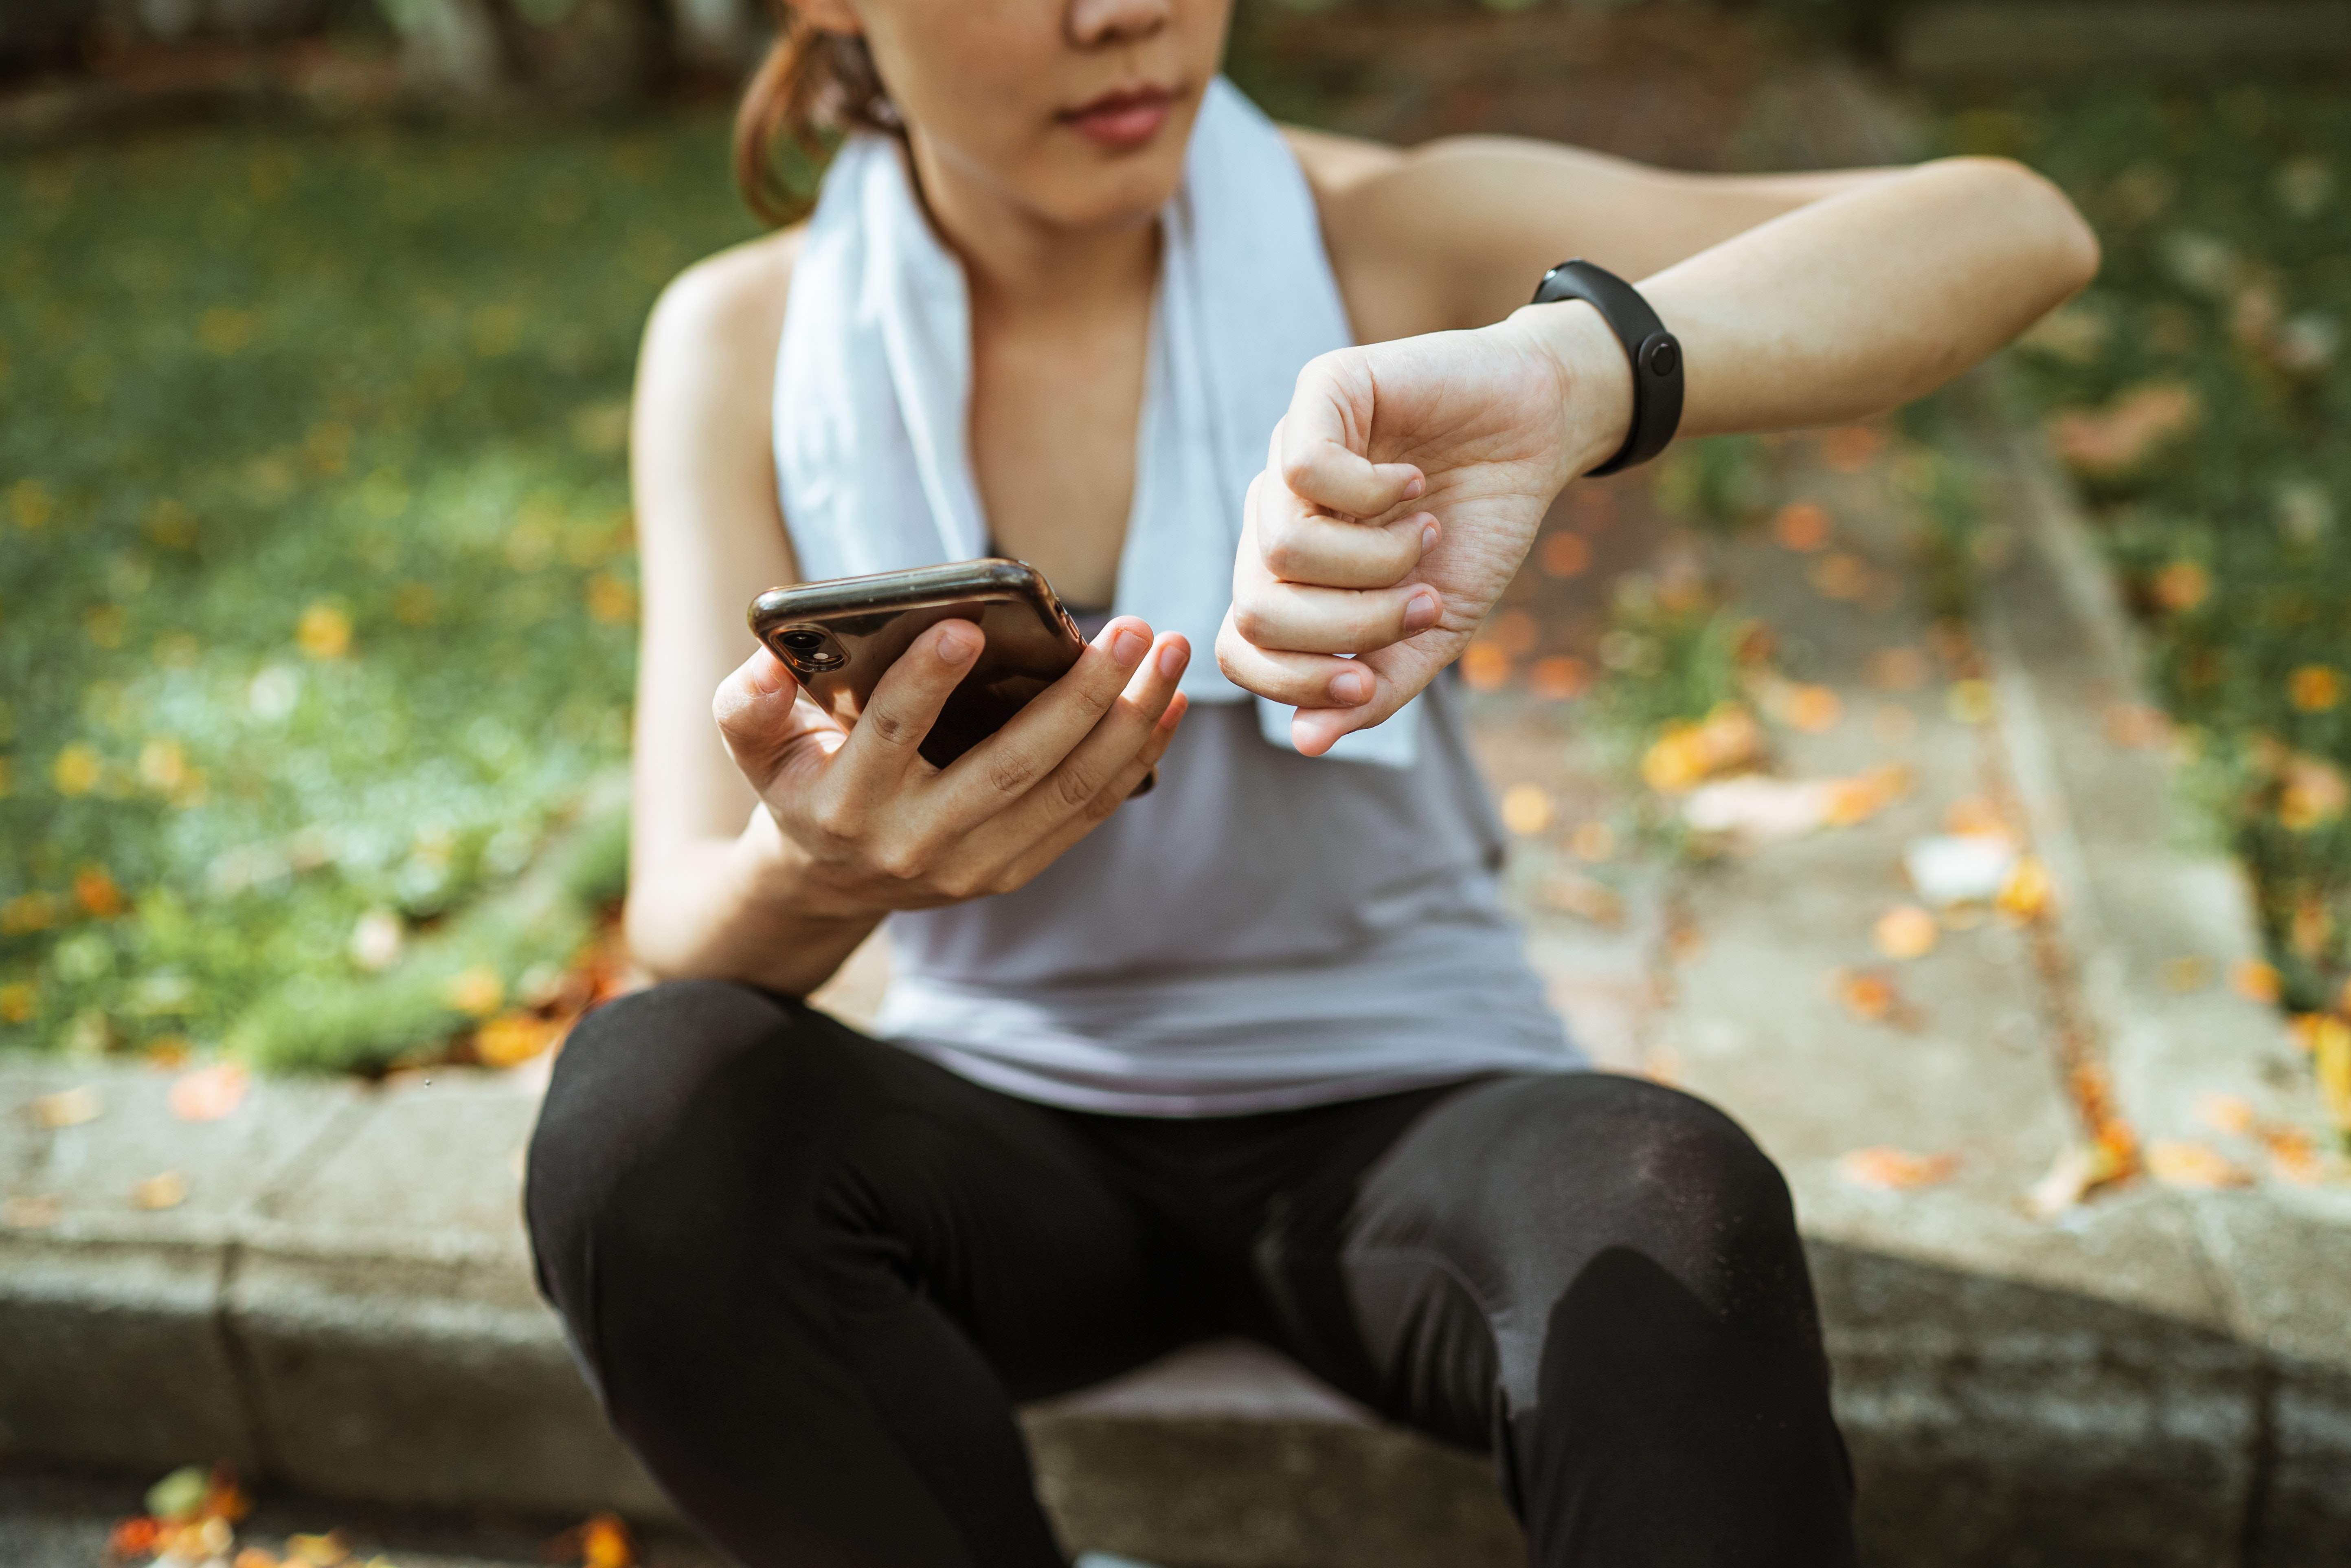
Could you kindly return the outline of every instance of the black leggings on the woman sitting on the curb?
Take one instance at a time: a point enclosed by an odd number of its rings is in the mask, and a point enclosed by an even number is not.
[[[1251,1335],[1491,1450],[1538,1568],[1838,1568],[1787,1187],[1672,1088],[1157,1119],[675,983],[571,1034],[529,1222],[614,1427],[752,1568],[1063,1568],[1013,1403]]]

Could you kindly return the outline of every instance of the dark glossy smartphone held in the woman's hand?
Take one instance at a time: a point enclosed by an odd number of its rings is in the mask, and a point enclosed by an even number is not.
[[[936,766],[1004,729],[1086,651],[1077,621],[1027,562],[877,571],[769,588],[750,602],[752,635],[842,726],[858,722],[882,675],[940,621],[971,621],[987,646],[922,738],[922,755]],[[1157,771],[1136,795],[1154,780]]]

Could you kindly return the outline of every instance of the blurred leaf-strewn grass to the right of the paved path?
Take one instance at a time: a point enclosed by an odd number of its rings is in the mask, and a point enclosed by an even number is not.
[[[2027,336],[2022,381],[2151,632],[2193,790],[2255,875],[2288,1004],[2342,1006],[2351,99],[2017,94],[1944,132],[2048,172],[2099,230],[2097,284]]]

